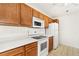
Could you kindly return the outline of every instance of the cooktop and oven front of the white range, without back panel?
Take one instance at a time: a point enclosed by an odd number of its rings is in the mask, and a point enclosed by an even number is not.
[[[38,56],[48,55],[48,38],[46,36],[32,37],[38,41]]]

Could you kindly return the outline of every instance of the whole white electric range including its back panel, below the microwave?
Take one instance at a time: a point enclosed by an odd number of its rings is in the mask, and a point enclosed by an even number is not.
[[[45,36],[45,29],[33,29],[29,30],[29,37],[38,41],[38,56],[48,55],[48,37]]]

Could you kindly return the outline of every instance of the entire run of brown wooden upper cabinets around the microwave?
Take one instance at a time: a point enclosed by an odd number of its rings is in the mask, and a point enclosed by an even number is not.
[[[43,15],[42,13],[23,3],[0,4],[0,24],[12,24],[32,27],[33,16],[44,20],[45,28],[48,28],[49,23],[59,23],[57,19],[53,21],[51,18]]]

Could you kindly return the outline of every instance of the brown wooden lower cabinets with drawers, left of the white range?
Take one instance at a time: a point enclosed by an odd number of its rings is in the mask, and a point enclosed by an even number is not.
[[[2,52],[0,56],[37,56],[37,42]]]

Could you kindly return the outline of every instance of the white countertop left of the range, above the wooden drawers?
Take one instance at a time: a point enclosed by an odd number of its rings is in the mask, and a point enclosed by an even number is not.
[[[35,40],[33,38],[26,38],[26,37],[23,37],[23,38],[19,37],[18,39],[16,38],[14,40],[2,41],[2,42],[0,42],[0,53],[13,49],[13,48],[17,48],[17,47],[26,45],[26,44],[30,44],[30,43],[33,43],[36,41],[37,40]]]

